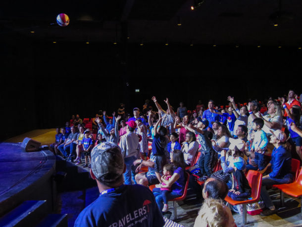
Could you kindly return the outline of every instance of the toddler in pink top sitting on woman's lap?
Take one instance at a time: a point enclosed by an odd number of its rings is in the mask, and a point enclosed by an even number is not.
[[[171,164],[166,164],[163,166],[163,175],[162,177],[165,180],[169,180],[171,176],[173,175],[173,166]],[[157,188],[158,185],[158,188]],[[156,188],[153,189],[153,192],[161,192],[162,199],[163,199],[163,208],[162,212],[167,212],[168,211],[168,201],[167,201],[167,193],[171,192],[171,187],[167,186],[164,182],[161,182],[160,184],[156,184]]]

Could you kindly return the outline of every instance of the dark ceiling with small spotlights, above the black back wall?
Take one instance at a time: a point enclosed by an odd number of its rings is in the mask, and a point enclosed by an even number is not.
[[[52,41],[201,45],[302,45],[301,0],[10,0],[1,2],[0,37]],[[58,13],[70,18],[59,27]],[[178,18],[182,25],[178,26]],[[278,26],[273,26],[277,23]],[[31,33],[33,31],[34,33]]]

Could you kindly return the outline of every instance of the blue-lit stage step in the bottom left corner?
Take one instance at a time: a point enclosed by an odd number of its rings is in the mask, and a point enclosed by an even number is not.
[[[34,226],[47,213],[46,200],[23,202],[0,218],[1,227]]]

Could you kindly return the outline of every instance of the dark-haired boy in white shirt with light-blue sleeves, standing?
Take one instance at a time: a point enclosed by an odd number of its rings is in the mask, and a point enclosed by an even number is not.
[[[266,133],[262,130],[264,121],[262,118],[255,118],[252,122],[253,130],[256,132],[254,133],[251,151],[255,152],[255,162],[257,163],[259,170],[263,170],[266,167],[264,152],[266,151],[268,143]]]

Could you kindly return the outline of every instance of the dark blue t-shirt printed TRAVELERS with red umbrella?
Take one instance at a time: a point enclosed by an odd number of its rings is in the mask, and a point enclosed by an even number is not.
[[[164,224],[151,190],[136,184],[100,195],[80,213],[74,226],[162,227]]]

